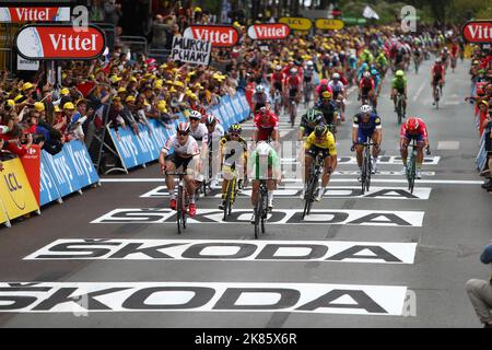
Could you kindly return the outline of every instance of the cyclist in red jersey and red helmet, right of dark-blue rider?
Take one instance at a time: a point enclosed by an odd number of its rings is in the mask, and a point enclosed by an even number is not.
[[[400,153],[403,162],[402,175],[407,175],[408,145],[417,140],[417,172],[415,177],[422,178],[423,149],[429,147],[427,127],[422,118],[410,117],[400,129]]]

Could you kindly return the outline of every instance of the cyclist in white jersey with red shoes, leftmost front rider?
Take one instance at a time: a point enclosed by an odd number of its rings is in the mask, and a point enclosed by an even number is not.
[[[189,215],[192,218],[197,212],[195,205],[195,177],[198,174],[198,165],[200,162],[200,149],[197,140],[190,136],[191,126],[189,122],[179,122],[177,133],[169,137],[161,150],[159,163],[161,171],[166,175],[166,186],[171,194],[169,208],[176,210],[176,189],[173,175],[165,172],[175,172],[183,166],[185,175],[185,186],[189,195]],[[174,153],[169,154],[173,149]]]

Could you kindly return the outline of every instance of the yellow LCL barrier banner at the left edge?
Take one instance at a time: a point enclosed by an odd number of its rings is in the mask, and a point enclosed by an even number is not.
[[[20,159],[3,162],[0,176],[0,199],[10,220],[39,209]]]

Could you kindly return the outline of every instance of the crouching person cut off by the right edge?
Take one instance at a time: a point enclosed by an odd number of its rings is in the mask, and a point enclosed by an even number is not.
[[[487,265],[492,264],[492,243],[483,249],[480,261]],[[480,322],[484,325],[484,328],[492,328],[492,276],[490,281],[468,280],[466,289]]]

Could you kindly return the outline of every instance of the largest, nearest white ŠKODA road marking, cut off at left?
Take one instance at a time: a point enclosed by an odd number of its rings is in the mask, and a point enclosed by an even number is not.
[[[0,312],[303,312],[401,316],[405,285],[331,283],[0,283]],[[84,303],[81,303],[84,300]]]

